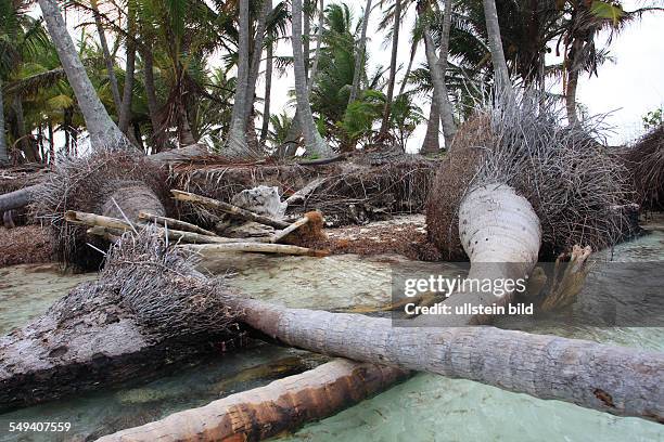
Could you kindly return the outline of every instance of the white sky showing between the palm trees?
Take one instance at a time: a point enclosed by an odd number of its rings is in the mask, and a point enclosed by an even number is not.
[[[325,4],[336,2],[327,0]],[[354,13],[355,22],[359,17],[365,1],[347,0]],[[636,9],[642,2],[637,0],[625,0],[625,10]],[[68,24],[79,23],[78,14],[68,14]],[[378,64],[390,63],[390,47],[385,44],[384,34],[378,30],[381,12],[374,9],[369,26],[368,53],[370,55],[370,70]],[[398,60],[401,70],[397,76],[397,90],[406,70],[410,50],[410,30],[414,22],[412,9],[404,17],[401,35],[399,40]],[[73,35],[75,31],[71,29]],[[89,31],[92,31],[90,28]],[[600,36],[598,44],[604,46],[605,38]],[[315,43],[311,44],[315,47]],[[290,55],[290,43],[281,43],[276,51],[277,54]],[[649,110],[664,105],[664,13],[651,13],[635,22],[614,38],[610,47],[610,55],[615,57],[615,63],[608,62],[598,69],[598,77],[588,78],[583,75],[579,80],[577,100],[588,109],[590,115],[611,112],[608,122],[615,129],[609,134],[612,144],[621,144],[634,140],[643,132],[641,117]],[[413,68],[425,61],[422,48],[419,49]],[[554,60],[548,61],[554,63]],[[257,94],[264,91],[264,79],[258,83]],[[294,86],[291,73],[278,78],[272,82],[272,114],[281,113],[288,107],[288,92]],[[552,91],[561,92],[560,84],[552,84]],[[424,114],[429,112],[427,103],[419,103]],[[288,107],[290,115],[294,114],[292,107]],[[259,122],[256,125],[259,126]],[[409,141],[409,151],[417,152],[424,136],[425,125],[421,125]],[[440,138],[442,140],[442,138]]]

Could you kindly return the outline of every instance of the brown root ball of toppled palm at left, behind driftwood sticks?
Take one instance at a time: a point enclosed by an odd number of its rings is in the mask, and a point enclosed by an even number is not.
[[[56,258],[86,270],[98,270],[108,246],[86,234],[86,227],[64,221],[66,210],[78,210],[129,219],[139,211],[170,212],[166,173],[144,157],[100,151],[84,158],[63,158],[39,188],[30,206],[38,220],[52,229]],[[115,203],[114,203],[115,202]]]

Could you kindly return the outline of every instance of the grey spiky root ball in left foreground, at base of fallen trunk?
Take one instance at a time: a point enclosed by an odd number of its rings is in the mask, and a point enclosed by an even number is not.
[[[158,339],[237,334],[239,314],[228,307],[220,283],[197,273],[193,255],[167,247],[146,227],[111,247],[100,282],[116,288],[143,330]]]

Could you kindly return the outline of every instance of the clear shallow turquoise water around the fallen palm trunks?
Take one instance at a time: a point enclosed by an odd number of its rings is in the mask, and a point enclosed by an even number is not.
[[[618,246],[614,258],[664,260],[664,233]],[[391,264],[398,257],[355,256],[312,259],[244,255],[210,257],[207,270],[228,275],[229,285],[254,297],[290,307],[344,309],[379,306],[391,299]],[[410,263],[439,272],[443,263]],[[43,312],[58,297],[92,275],[59,275],[54,270],[0,270],[0,332]],[[80,278],[80,280],[77,280]],[[25,295],[29,294],[29,298]],[[664,329],[563,326],[559,322],[503,324],[529,332],[592,339],[664,351]],[[204,405],[237,391],[266,385],[322,362],[307,352],[260,346],[182,367],[173,376],[136,388],[103,391],[0,415],[0,441],[59,440],[9,434],[10,421],[71,421],[60,440],[92,440],[170,413]],[[537,400],[461,379],[421,374],[336,416],[310,424],[284,441],[664,441],[664,426],[620,418],[575,405]]]

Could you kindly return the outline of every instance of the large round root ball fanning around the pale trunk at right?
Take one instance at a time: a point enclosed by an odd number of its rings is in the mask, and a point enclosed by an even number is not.
[[[531,203],[546,256],[574,244],[600,249],[628,227],[625,212],[615,209],[628,203],[626,170],[593,140],[601,119],[563,127],[557,103],[540,99],[495,98],[460,130],[438,169],[426,212],[430,238],[445,257],[463,256],[459,204],[468,190],[484,184],[508,184]]]

